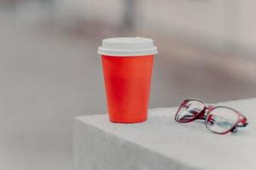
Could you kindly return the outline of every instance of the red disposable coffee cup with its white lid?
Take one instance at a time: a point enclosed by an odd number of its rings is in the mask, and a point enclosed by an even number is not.
[[[102,54],[110,122],[136,123],[148,118],[150,82],[157,48],[145,37],[102,40]]]

